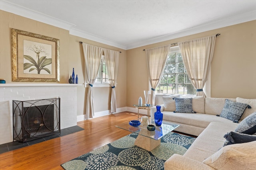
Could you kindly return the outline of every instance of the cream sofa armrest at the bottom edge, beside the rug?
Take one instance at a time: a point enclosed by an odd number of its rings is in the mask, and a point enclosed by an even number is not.
[[[215,170],[214,168],[197,160],[173,154],[164,162],[164,170]]]

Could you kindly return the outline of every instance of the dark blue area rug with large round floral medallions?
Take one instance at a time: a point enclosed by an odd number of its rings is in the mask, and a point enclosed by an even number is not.
[[[61,166],[65,170],[164,170],[164,162],[174,153],[183,155],[196,138],[170,132],[151,152],[134,145],[132,133]]]

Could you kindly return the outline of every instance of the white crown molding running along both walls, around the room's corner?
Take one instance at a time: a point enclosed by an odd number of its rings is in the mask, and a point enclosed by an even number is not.
[[[256,10],[251,11],[251,12],[247,12],[241,15],[237,15],[237,16],[233,16],[230,18],[225,18],[222,20],[218,20],[218,21],[214,21],[214,22],[210,22],[210,23],[206,23],[204,25],[199,25],[197,27],[193,27],[191,29],[186,29],[186,30],[182,30],[182,31],[178,31],[176,33],[172,33],[172,34],[168,34],[168,35],[163,35],[160,37],[156,37],[153,39],[147,39],[145,41],[140,41],[140,42],[136,42],[136,43],[132,43],[130,45],[122,45],[118,42],[114,42],[111,41],[109,39],[104,39],[102,37],[99,37],[97,35],[93,35],[81,30],[76,29],[76,25],[73,23],[69,23],[63,20],[58,20],[56,18],[53,18],[51,16],[47,16],[45,14],[30,10],[28,8],[22,7],[22,6],[18,6],[16,4],[13,4],[11,2],[8,2],[7,0],[0,0],[0,10],[4,10],[6,12],[10,12],[19,16],[23,16],[26,18],[30,18],[32,20],[36,20],[36,21],[40,21],[49,25],[53,25],[62,29],[66,29],[69,31],[69,33],[71,35],[75,35],[78,37],[82,37],[85,39],[90,39],[92,41],[97,41],[99,43],[103,43],[106,45],[111,45],[114,47],[118,47],[120,49],[124,49],[124,50],[128,50],[128,49],[133,49],[133,48],[137,48],[137,47],[142,47],[144,45],[150,45],[150,44],[154,44],[154,43],[159,43],[162,41],[167,41],[170,39],[175,39],[175,38],[179,38],[179,37],[184,37],[187,35],[192,35],[192,34],[196,34],[196,33],[201,33],[204,31],[210,31],[213,29],[218,29],[221,27],[227,27],[230,25],[235,25],[238,23],[243,23],[243,22],[247,22],[247,21],[252,21],[252,20],[256,20]]]

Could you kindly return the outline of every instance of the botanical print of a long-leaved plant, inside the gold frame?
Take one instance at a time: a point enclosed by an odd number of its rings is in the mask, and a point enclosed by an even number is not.
[[[52,74],[52,46],[24,40],[24,74]]]

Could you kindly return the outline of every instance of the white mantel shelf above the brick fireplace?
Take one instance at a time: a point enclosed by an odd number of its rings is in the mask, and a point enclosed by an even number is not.
[[[0,84],[0,87],[20,87],[20,86],[82,86],[82,84],[63,84],[63,83],[7,83],[7,84]]]

